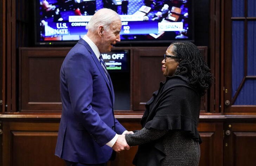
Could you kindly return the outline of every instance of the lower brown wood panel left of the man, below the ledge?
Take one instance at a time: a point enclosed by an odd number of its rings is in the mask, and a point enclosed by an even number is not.
[[[59,123],[4,122],[3,166],[64,166],[54,155]]]

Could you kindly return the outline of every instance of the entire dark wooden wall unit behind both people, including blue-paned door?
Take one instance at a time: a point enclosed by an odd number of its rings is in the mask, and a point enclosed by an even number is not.
[[[0,166],[64,166],[54,151],[61,112],[59,69],[70,47],[34,47],[33,11],[27,10],[33,4],[27,2],[0,1]],[[256,19],[250,15],[254,1],[194,3],[194,41],[208,46],[198,48],[215,76],[201,102],[200,166],[254,166],[256,105],[251,87],[256,77],[251,68],[256,47],[251,34]],[[130,53],[130,110],[115,113],[128,130],[137,130],[145,102],[165,80],[160,68],[167,44],[128,45],[113,51]],[[117,154],[108,166],[131,166],[136,150]]]

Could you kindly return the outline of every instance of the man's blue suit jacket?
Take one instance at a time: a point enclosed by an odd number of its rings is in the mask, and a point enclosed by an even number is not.
[[[72,162],[107,162],[105,145],[125,128],[114,118],[114,90],[100,61],[83,39],[66,55],[60,69],[62,117],[55,155]]]

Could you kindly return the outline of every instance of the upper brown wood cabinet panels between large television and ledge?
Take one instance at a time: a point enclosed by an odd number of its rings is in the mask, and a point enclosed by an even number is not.
[[[207,47],[198,47],[207,61]],[[119,47],[113,51],[128,50],[130,58],[130,85],[132,110],[144,110],[145,103],[165,81],[161,61],[167,47]],[[59,112],[59,71],[70,47],[20,48],[19,51],[19,111]],[[116,86],[114,85],[114,88]],[[119,86],[121,87],[121,86]],[[125,88],[125,87],[124,87]],[[122,89],[121,89],[122,90]],[[123,89],[125,91],[126,89]],[[208,95],[201,101],[201,111],[207,112]]]

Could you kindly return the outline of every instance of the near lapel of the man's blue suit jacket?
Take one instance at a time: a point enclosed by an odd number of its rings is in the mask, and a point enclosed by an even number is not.
[[[95,53],[92,51],[91,47],[88,45],[88,43],[86,41],[84,41],[83,39],[80,39],[78,41],[80,44],[83,44],[87,49],[88,51],[91,53],[91,57],[92,59],[94,60],[96,66],[98,67],[98,69],[100,70],[101,74],[102,74],[102,77],[104,78],[109,90],[110,90],[110,94],[111,94],[111,97],[112,97],[112,101],[113,101],[113,105],[114,105],[114,89],[113,89],[113,85],[112,85],[112,81],[109,77],[109,81],[108,81],[108,78],[106,77],[105,75],[105,72],[104,72],[104,69],[103,67],[101,66],[101,62],[97,59]],[[108,74],[109,75],[109,74]],[[110,86],[111,84],[111,86]]]

